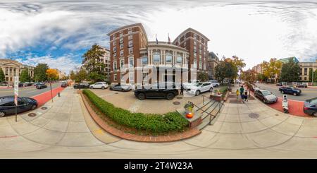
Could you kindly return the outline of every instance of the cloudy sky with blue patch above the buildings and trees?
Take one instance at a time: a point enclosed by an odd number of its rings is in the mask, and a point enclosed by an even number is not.
[[[149,40],[171,40],[187,28],[209,37],[209,51],[237,55],[247,68],[263,60],[317,59],[317,2],[308,1],[0,1],[0,58],[68,73],[106,35],[143,23]]]

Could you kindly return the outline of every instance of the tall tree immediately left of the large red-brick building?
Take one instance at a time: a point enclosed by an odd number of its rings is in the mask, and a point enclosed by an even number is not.
[[[89,73],[89,79],[94,82],[102,81],[106,78],[106,64],[101,61],[101,57],[103,57],[105,53],[102,47],[94,44],[92,48],[82,56],[82,68]]]

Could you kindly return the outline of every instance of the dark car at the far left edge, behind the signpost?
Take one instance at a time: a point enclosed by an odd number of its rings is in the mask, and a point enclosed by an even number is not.
[[[18,97],[17,113],[37,108],[37,100],[30,97]],[[0,97],[0,117],[15,114],[14,96]]]

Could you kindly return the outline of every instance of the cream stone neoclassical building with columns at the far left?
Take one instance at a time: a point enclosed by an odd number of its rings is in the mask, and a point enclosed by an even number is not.
[[[31,78],[34,78],[34,67],[23,65],[18,61],[11,59],[0,59],[0,68],[4,71],[4,80],[12,85],[14,76],[20,76],[23,69],[27,68],[29,70],[29,74]]]

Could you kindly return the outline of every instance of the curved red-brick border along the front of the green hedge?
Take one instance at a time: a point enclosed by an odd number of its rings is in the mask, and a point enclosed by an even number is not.
[[[201,133],[201,131],[197,129],[190,129],[188,131],[185,131],[184,133],[178,133],[178,134],[169,135],[169,136],[140,136],[140,135],[136,135],[132,133],[125,133],[123,131],[120,131],[119,129],[116,129],[113,126],[106,124],[106,122],[103,119],[101,119],[96,114],[96,112],[94,112],[92,107],[89,106],[82,92],[78,91],[78,93],[80,94],[80,97],[82,98],[82,101],[84,102],[87,112],[90,114],[92,119],[94,119],[96,124],[98,124],[101,127],[101,129],[104,129],[104,131],[111,133],[111,135],[116,136],[118,138],[123,138],[125,140],[137,141],[137,142],[165,143],[165,142],[181,141],[183,139],[192,138],[193,136],[197,136]]]

